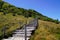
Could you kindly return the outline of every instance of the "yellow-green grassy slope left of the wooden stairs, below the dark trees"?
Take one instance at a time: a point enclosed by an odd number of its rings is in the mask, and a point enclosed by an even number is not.
[[[12,13],[3,15],[3,12],[0,12],[0,36],[3,35],[2,29],[6,26],[6,33],[9,34],[10,32],[20,28],[22,25],[26,23],[26,20],[30,20],[32,18],[26,18],[22,15],[13,16]]]

